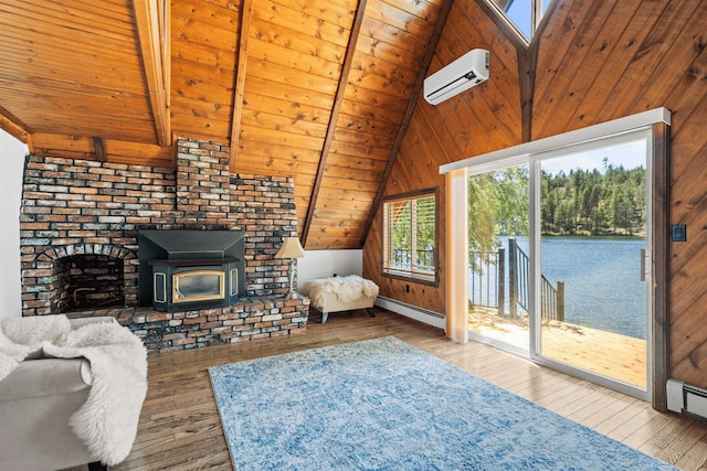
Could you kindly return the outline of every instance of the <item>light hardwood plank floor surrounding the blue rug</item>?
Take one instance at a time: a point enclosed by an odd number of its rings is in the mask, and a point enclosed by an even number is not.
[[[476,376],[584,424],[683,470],[707,470],[707,426],[535,365],[488,346],[449,341],[439,329],[377,310],[316,313],[305,333],[149,357],[149,390],[124,470],[231,470],[207,368],[383,335],[394,335]],[[572,450],[568,450],[571,452]]]

